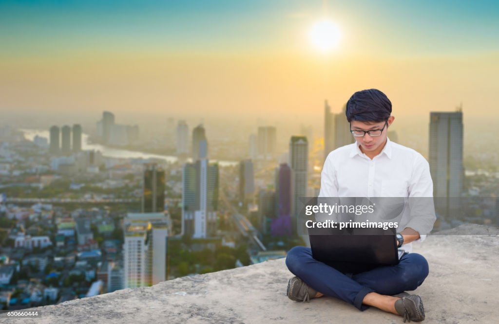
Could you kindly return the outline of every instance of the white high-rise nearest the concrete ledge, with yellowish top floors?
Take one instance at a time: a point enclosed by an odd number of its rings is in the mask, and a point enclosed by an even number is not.
[[[169,219],[163,213],[129,213],[123,220],[124,287],[166,280]]]

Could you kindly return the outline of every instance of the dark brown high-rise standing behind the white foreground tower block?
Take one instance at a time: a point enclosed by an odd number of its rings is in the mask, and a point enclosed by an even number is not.
[[[165,171],[156,164],[144,169],[142,212],[155,213],[165,209]]]

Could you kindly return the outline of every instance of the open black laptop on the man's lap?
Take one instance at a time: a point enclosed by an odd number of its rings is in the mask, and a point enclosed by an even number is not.
[[[314,228],[308,230],[312,256],[342,273],[357,274],[379,266],[396,265],[404,250],[397,249],[393,230]]]

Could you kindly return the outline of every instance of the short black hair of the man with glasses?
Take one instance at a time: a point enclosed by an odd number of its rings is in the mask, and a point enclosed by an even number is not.
[[[346,103],[348,122],[384,122],[392,113],[392,103],[378,89],[357,91]]]

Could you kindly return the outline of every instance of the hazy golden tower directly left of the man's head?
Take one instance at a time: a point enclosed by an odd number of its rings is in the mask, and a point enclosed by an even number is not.
[[[324,159],[331,151],[355,141],[350,133],[350,124],[346,120],[345,112],[346,105],[340,114],[334,114],[331,113],[327,100],[324,103]]]

